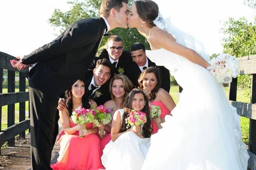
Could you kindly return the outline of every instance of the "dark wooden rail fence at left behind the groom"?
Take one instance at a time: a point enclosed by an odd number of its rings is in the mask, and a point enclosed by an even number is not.
[[[26,90],[26,77],[23,70],[19,72],[19,92],[15,93],[15,71],[12,68],[10,60],[15,57],[0,52],[0,125],[2,126],[2,106],[8,105],[7,129],[2,130],[0,126],[0,146],[6,141],[8,146],[15,145],[14,137],[19,134],[21,138],[25,137],[26,129],[30,128],[30,119],[25,120],[25,102],[29,100],[29,92]],[[8,70],[8,93],[3,94],[3,69]],[[14,104],[19,103],[19,123],[15,124]],[[30,114],[29,114],[30,115]],[[1,150],[0,150],[1,154]]]

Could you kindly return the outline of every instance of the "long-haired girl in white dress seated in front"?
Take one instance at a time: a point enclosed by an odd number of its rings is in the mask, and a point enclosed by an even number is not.
[[[146,113],[147,121],[142,129],[140,125],[127,127],[125,119],[132,110]],[[138,133],[140,131],[142,133]],[[125,100],[124,109],[114,113],[111,141],[101,157],[106,170],[140,170],[148,153],[151,131],[148,99],[142,90],[133,89]]]

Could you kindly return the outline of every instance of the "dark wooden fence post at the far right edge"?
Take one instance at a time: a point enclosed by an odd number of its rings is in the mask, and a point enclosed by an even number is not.
[[[256,103],[256,74],[251,75],[251,103]],[[250,119],[249,150],[256,154],[256,120]]]

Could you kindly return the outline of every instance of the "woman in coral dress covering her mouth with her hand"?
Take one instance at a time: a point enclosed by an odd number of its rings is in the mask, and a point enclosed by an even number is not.
[[[157,105],[161,108],[159,119],[152,122],[153,134],[158,132],[160,123],[165,122],[165,116],[171,115],[172,109],[176,106],[171,95],[160,88],[161,78],[160,70],[156,67],[146,68],[138,79],[139,88],[148,96],[151,105]],[[158,125],[158,126],[157,126]]]

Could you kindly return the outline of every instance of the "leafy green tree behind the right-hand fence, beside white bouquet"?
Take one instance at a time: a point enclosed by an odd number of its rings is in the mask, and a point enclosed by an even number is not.
[[[256,17],[254,22],[250,23],[244,17],[239,18],[239,20],[229,18],[221,30],[224,33],[224,53],[236,57],[256,54]],[[238,76],[238,87],[247,89],[244,95],[249,97],[251,75]]]

